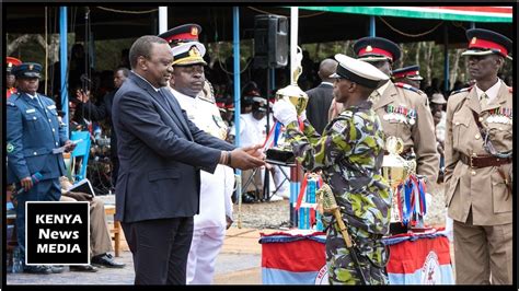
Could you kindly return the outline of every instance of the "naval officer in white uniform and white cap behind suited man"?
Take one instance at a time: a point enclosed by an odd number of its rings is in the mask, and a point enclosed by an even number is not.
[[[170,82],[171,92],[198,128],[224,140],[227,126],[218,106],[203,92],[206,48],[198,42],[191,42],[174,46],[172,53],[174,72]],[[212,283],[216,257],[223,245],[226,229],[232,223],[233,187],[234,172],[231,167],[218,165],[214,174],[200,172],[200,211],[194,218],[187,284]]]

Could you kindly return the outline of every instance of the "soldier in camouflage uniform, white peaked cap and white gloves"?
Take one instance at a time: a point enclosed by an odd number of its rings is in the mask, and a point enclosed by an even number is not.
[[[387,284],[384,265],[389,254],[381,238],[389,230],[391,199],[381,175],[384,133],[368,96],[389,77],[367,62],[341,54],[335,59],[338,66],[332,75],[336,78],[334,96],[346,110],[330,121],[323,136],[308,120],[301,131],[296,109],[287,101],[276,102],[273,112],[286,126],[287,140],[302,166],[308,171],[322,170],[354,241],[359,266],[351,259],[332,216],[324,216],[330,283],[360,284],[364,277],[367,284]]]

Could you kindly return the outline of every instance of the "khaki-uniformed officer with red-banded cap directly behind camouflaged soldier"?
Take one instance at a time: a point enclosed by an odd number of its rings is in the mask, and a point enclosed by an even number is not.
[[[401,56],[400,47],[382,37],[360,38],[355,43],[354,51],[358,59],[373,65],[388,77],[391,77],[392,63]],[[404,141],[404,158],[408,158],[412,150],[414,151],[416,172],[418,175],[425,175],[427,186],[430,186],[430,183],[437,179],[439,155],[427,96],[408,84],[393,83],[390,80],[373,91],[370,98],[373,110],[382,121],[385,137],[394,136]],[[335,105],[332,104],[333,106]],[[341,113],[342,109],[338,110]],[[333,117],[333,114],[331,115]]]

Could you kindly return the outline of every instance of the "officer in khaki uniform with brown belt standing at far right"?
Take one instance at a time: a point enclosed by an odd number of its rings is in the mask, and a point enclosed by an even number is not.
[[[497,77],[512,43],[466,31],[475,85],[447,103],[446,205],[453,219],[459,284],[512,282],[512,94]],[[486,140],[486,141],[485,141]],[[492,279],[491,279],[492,278]]]

